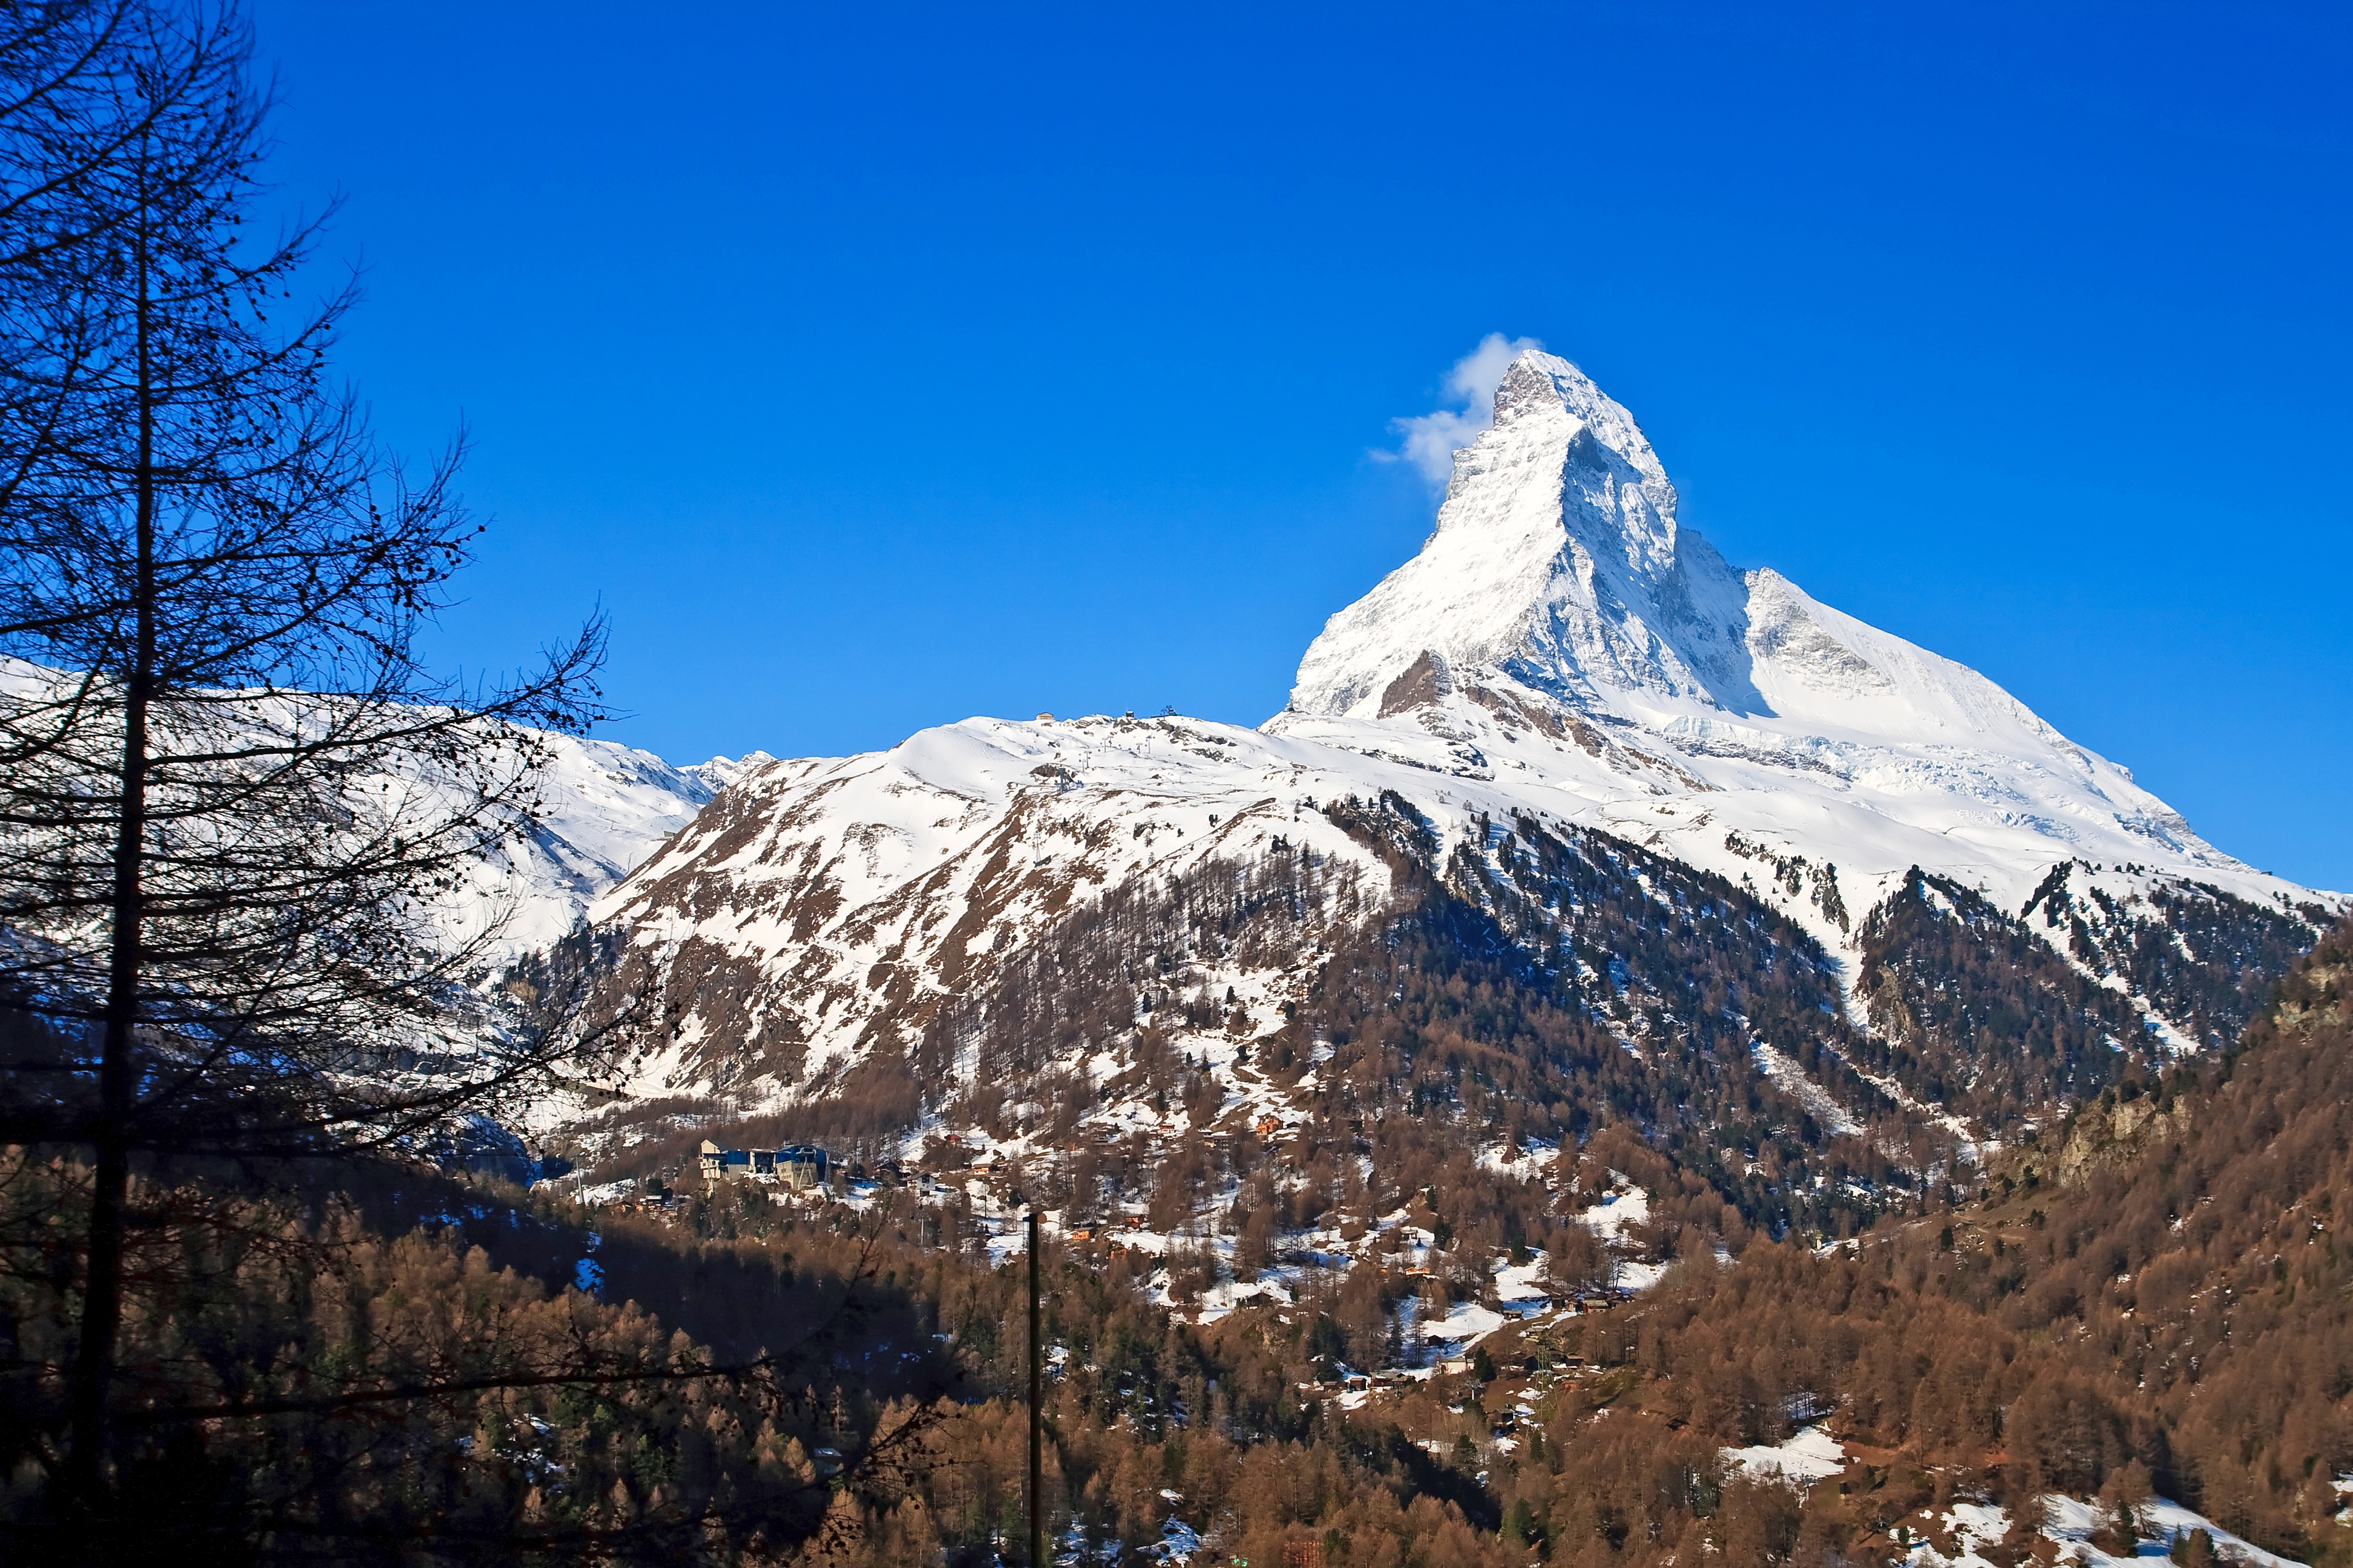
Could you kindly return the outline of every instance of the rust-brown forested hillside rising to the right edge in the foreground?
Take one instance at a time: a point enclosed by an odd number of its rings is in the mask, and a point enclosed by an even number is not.
[[[1574,1342],[1624,1378],[1555,1394],[1555,1458],[1513,1483],[1562,1561],[1732,1535],[1751,1561],[1875,1561],[1889,1526],[1944,1535],[1955,1497],[2019,1521],[2045,1493],[2113,1514],[2153,1490],[2285,1556],[2353,1561],[2348,973],[2339,929],[2238,1051],[2104,1091],[1981,1197],[1887,1213],[1852,1246],[1692,1255],[1588,1319]],[[1595,1420],[1595,1387],[1638,1420]],[[1718,1490],[1718,1446],[1817,1410],[1857,1455],[1835,1486]]]

